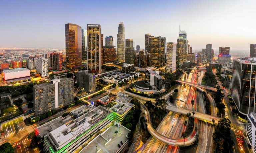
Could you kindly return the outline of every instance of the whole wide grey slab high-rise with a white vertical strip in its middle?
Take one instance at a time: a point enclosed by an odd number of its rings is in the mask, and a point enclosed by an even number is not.
[[[61,79],[33,87],[34,109],[36,116],[56,108],[71,104],[74,101],[74,80],[62,74]]]

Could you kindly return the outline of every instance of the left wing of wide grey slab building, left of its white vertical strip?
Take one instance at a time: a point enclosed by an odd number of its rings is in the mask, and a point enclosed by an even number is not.
[[[43,115],[55,109],[55,84],[44,83],[33,87],[35,115]]]

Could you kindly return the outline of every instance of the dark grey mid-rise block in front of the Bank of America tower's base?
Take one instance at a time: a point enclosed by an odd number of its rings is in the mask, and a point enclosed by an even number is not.
[[[92,73],[86,71],[76,72],[77,88],[93,93],[96,90],[95,78]]]

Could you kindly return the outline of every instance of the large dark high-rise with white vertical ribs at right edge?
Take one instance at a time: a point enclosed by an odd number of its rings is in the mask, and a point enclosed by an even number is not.
[[[231,95],[239,115],[256,112],[255,71],[256,58],[233,59]]]

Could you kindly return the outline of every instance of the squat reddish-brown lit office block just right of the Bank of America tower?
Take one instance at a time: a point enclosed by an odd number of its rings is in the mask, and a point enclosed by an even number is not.
[[[103,61],[104,61],[104,63],[116,62],[116,47],[115,46],[104,46],[103,47]]]

